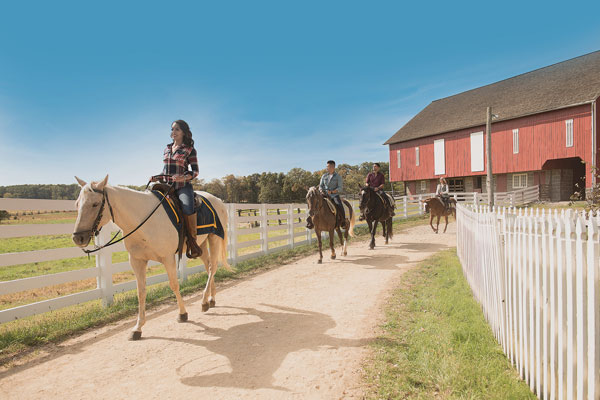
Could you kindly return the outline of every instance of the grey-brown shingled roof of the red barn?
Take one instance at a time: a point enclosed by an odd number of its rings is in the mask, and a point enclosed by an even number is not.
[[[485,125],[486,107],[503,121],[588,103],[600,96],[600,51],[435,100],[385,144]]]

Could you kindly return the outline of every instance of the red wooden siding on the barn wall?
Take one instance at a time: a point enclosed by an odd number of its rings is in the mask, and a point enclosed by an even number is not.
[[[565,120],[567,119],[573,119],[572,147],[566,147]],[[518,154],[513,154],[512,149],[512,130],[515,128],[519,129]],[[567,157],[580,157],[591,166],[591,130],[589,104],[495,123],[492,125],[494,174],[539,171],[547,160]],[[390,145],[391,180],[414,181],[439,178],[434,174],[433,142],[442,138],[445,139],[446,153],[446,174],[443,176],[485,174],[487,172],[485,169],[483,172],[471,171],[470,135],[481,131],[485,132],[485,126]],[[415,165],[416,146],[419,146],[419,166]],[[484,141],[485,147],[487,147],[486,141]],[[397,166],[396,150],[400,150],[401,168]],[[487,168],[487,161],[485,168]],[[588,186],[591,184],[590,167],[586,167],[586,183]]]

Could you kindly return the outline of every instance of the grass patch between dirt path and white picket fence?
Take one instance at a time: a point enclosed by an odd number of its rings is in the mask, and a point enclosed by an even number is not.
[[[403,275],[365,366],[371,399],[535,399],[502,353],[455,250]]]

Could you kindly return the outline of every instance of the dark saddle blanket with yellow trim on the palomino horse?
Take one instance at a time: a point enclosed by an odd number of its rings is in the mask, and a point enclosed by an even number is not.
[[[159,199],[162,200],[163,194],[157,191],[152,191],[152,193]],[[209,233],[214,233],[219,236],[221,239],[225,238],[225,231],[223,229],[223,225],[221,224],[221,220],[219,219],[219,215],[215,211],[215,208],[210,203],[210,201],[200,196],[198,193],[195,193],[195,201],[194,201],[194,210],[196,211],[196,225],[198,235],[207,235]],[[180,216],[175,213],[175,207],[173,207],[173,203],[170,198],[166,198],[163,201],[162,205],[165,209],[165,212],[169,216],[169,219],[179,232],[183,228],[183,221]]]

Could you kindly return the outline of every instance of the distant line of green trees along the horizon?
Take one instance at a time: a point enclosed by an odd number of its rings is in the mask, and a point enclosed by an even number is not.
[[[381,172],[386,178],[386,190],[391,190],[389,183],[389,163],[381,162]],[[344,181],[344,193],[358,193],[358,187],[364,185],[365,178],[373,168],[373,163],[364,162],[359,165],[339,164],[338,174]],[[292,203],[304,202],[306,188],[319,184],[325,169],[307,171],[292,168],[287,173],[263,172],[246,176],[226,175],[221,179],[209,182],[203,179],[192,181],[195,190],[212,193],[226,203]],[[129,185],[142,190],[144,185]],[[396,184],[394,189],[398,189]],[[75,200],[79,195],[79,185],[12,185],[0,186],[0,197],[23,199]]]

